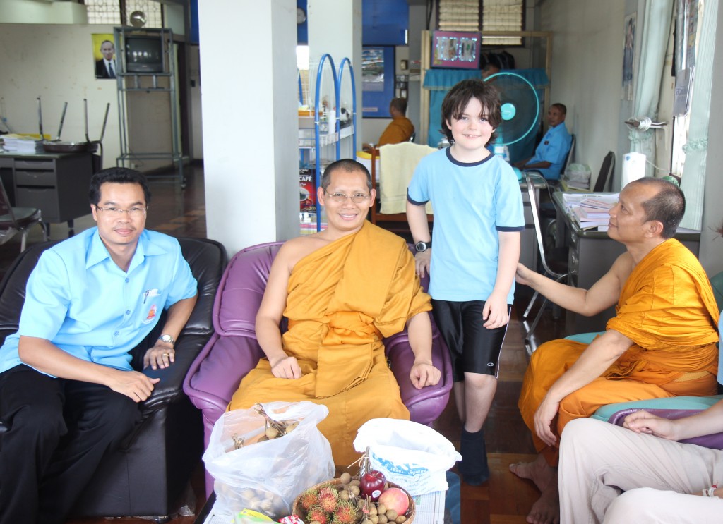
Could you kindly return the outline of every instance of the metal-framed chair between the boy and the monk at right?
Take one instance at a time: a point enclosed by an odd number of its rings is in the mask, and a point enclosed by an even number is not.
[[[547,190],[547,180],[545,180],[544,177],[536,173],[525,173],[525,181],[527,183],[527,194],[530,201],[530,211],[532,214],[532,222],[535,228],[537,248],[539,250],[539,260],[544,270],[543,274],[544,276],[560,282],[566,279],[570,274],[568,271],[568,248],[552,248],[552,250],[549,250],[549,253],[545,249],[544,237],[542,235],[542,223],[540,221],[539,205],[537,202],[537,197],[535,195],[536,185],[537,187],[541,188],[541,191]],[[547,298],[544,298],[532,323],[529,324],[527,322],[527,318],[530,315],[532,306],[536,302],[538,295],[538,292],[534,292],[529,305],[527,305],[525,313],[523,313],[522,315],[523,326],[526,329],[525,349],[530,355],[535,349],[537,349],[537,344],[533,340],[534,331],[540,321],[540,318],[542,318],[542,313],[544,313],[544,308],[547,305]]]

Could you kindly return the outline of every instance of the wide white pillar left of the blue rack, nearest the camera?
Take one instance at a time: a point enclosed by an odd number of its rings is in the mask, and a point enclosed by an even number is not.
[[[233,255],[299,235],[296,1],[198,9],[206,232]]]

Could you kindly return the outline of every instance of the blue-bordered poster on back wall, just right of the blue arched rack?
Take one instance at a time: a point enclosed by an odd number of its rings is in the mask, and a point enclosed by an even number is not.
[[[390,118],[394,97],[394,46],[361,48],[361,107],[364,118]]]

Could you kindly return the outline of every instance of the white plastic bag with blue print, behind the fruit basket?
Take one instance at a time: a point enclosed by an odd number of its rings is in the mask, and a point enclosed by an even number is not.
[[[415,497],[445,491],[445,471],[462,460],[443,435],[408,420],[369,420],[354,439],[354,449],[359,453],[364,453],[367,446],[372,468]]]

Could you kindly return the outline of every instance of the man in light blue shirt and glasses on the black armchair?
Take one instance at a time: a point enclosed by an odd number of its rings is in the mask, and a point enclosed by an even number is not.
[[[196,303],[178,241],[145,230],[145,178],[106,169],[89,196],[98,227],[40,256],[20,328],[0,347],[1,524],[66,521],[158,383],[132,362],[171,366]]]

